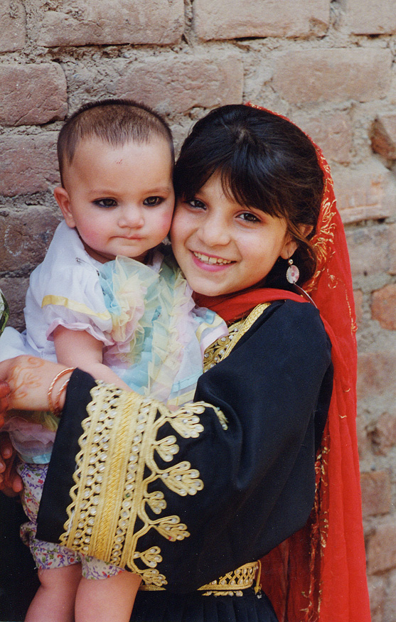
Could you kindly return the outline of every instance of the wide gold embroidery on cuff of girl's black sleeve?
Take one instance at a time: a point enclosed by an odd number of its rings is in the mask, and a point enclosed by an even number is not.
[[[183,540],[189,533],[176,515],[157,520],[149,518],[146,505],[159,515],[166,508],[166,500],[159,491],[149,493],[148,486],[160,479],[169,490],[186,496],[202,490],[203,482],[199,479],[199,471],[191,468],[187,461],[165,469],[157,466],[155,452],[166,462],[173,461],[178,453],[176,436],[157,440],[157,433],[168,423],[183,438],[197,438],[203,431],[198,414],[205,407],[213,406],[196,402],[170,412],[159,402],[133,392],[121,392],[102,382],[97,383],[91,395],[92,402],[87,407],[89,416],[82,422],[84,432],[79,441],[82,448],[89,444],[91,451],[85,455],[81,450],[76,457],[75,486],[70,492],[72,503],[68,506],[69,518],[61,543],[119,567],[128,566],[140,574],[146,584],[164,585],[166,577],[156,569],[162,560],[160,547],[139,552],[138,540],[150,529],[171,541]],[[116,401],[117,409],[114,408]],[[132,439],[132,452],[128,452]],[[112,468],[107,468],[109,455]],[[115,461],[117,468],[114,468]],[[149,476],[144,476],[145,469]],[[82,476],[85,486],[79,486]],[[99,496],[102,486],[106,488],[105,499],[103,493],[102,498]],[[143,526],[134,533],[137,519]],[[147,568],[138,567],[138,559]]]

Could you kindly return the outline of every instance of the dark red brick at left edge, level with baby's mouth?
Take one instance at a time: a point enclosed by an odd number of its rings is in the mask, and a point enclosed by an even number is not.
[[[4,215],[3,211],[0,215],[1,270],[33,269],[43,261],[60,218],[60,213],[41,205],[9,215]]]

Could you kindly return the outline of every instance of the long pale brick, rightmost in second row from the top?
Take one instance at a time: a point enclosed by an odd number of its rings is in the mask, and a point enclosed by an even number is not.
[[[289,102],[369,102],[390,87],[390,50],[328,48],[279,55],[273,85]]]

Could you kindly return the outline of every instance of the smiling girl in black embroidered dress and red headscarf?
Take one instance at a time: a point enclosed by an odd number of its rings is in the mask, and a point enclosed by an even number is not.
[[[41,537],[139,572],[136,622],[368,622],[353,291],[328,165],[287,119],[235,105],[196,124],[175,181],[173,250],[230,336],[206,350],[196,401],[175,412],[80,370],[55,380],[56,395],[70,378]],[[11,406],[43,407],[64,370],[41,362],[33,385],[35,364],[0,365]],[[114,413],[130,422],[122,438]]]

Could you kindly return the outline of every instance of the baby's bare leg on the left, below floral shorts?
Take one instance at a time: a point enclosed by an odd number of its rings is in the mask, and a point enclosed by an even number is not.
[[[25,622],[74,622],[75,595],[81,579],[81,564],[40,569],[38,578],[41,585],[31,601]]]

